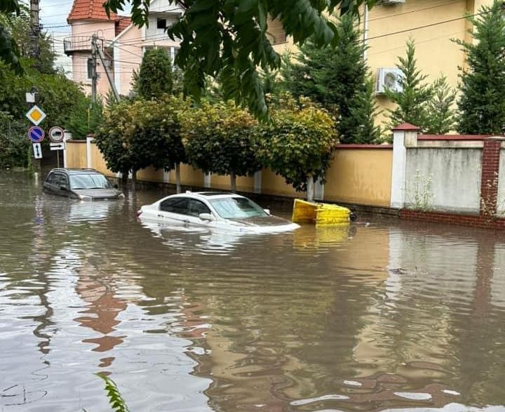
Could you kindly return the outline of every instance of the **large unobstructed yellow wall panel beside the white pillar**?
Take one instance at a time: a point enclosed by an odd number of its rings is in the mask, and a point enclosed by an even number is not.
[[[387,206],[393,149],[337,149],[326,172],[325,200]]]

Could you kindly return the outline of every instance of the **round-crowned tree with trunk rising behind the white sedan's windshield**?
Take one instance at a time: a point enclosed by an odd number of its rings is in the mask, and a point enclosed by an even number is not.
[[[256,121],[233,102],[204,102],[184,119],[184,141],[189,163],[206,173],[230,176],[236,191],[236,176],[260,170],[254,144]]]

